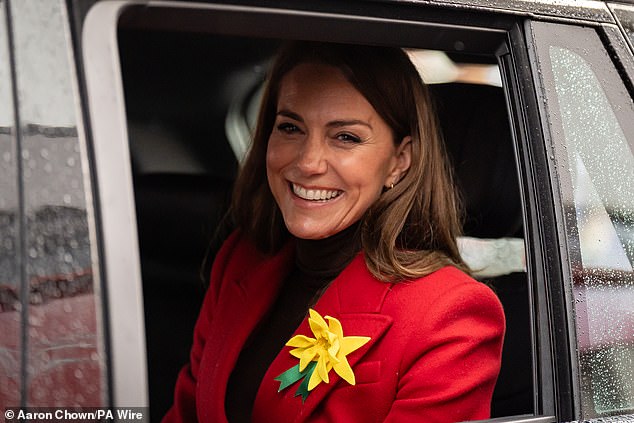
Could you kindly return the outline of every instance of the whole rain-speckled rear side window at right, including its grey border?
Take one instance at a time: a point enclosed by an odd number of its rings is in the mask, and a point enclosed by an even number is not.
[[[535,29],[573,279],[582,416],[631,413],[634,105],[593,30],[560,29],[555,40],[554,28]]]

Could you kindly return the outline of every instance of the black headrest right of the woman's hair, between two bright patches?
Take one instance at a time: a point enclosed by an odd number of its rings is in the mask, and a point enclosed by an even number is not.
[[[465,235],[523,236],[522,202],[504,91],[474,84],[429,88],[464,202]]]

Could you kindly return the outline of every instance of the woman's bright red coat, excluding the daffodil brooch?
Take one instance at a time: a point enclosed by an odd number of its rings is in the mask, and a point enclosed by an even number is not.
[[[219,252],[164,422],[226,422],[227,381],[244,342],[290,271],[293,246],[263,256],[234,233]],[[376,280],[359,254],[314,309],[344,336],[371,340],[348,355],[351,386],[334,371],[302,403],[274,378],[298,364],[289,347],[256,396],[255,422],[456,422],[489,416],[500,368],[504,314],[493,292],[453,267],[412,282]],[[312,337],[307,319],[295,334]]]

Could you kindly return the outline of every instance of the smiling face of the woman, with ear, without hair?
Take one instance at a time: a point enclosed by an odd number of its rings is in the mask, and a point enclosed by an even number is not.
[[[358,221],[409,168],[410,138],[390,127],[335,67],[300,64],[281,80],[269,186],[291,234],[326,238]]]

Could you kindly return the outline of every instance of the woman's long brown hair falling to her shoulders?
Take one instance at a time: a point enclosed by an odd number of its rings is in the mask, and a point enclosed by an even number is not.
[[[396,145],[411,136],[410,168],[362,218],[361,248],[370,272],[402,281],[446,265],[468,271],[456,244],[459,201],[429,92],[407,54],[395,47],[296,41],[281,48],[234,188],[231,214],[238,228],[266,254],[290,237],[267,182],[266,150],[281,80],[300,63],[336,67],[390,126]]]

